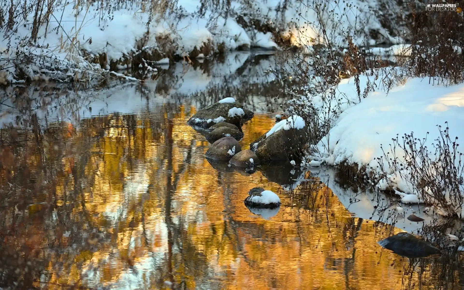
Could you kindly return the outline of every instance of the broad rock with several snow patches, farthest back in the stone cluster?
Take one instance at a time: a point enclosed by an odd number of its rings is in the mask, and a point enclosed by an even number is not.
[[[208,129],[219,122],[228,122],[240,127],[242,122],[251,120],[253,112],[243,108],[233,97],[226,97],[218,103],[213,103],[199,110],[188,119],[187,123]]]

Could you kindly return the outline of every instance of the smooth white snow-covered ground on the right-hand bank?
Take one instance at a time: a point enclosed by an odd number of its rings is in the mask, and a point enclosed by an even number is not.
[[[385,74],[380,75],[377,80],[375,76],[361,76],[361,94],[368,80],[379,84],[385,76]],[[462,126],[464,84],[442,86],[429,84],[428,78],[407,78],[404,84],[393,87],[388,93],[383,87],[376,88],[376,91],[368,93],[366,98],[361,97],[361,102],[356,92],[354,78],[342,80],[335,91],[335,97],[329,98],[329,101],[321,95],[303,97],[304,103],[316,107],[321,119],[329,120],[331,129],[329,134],[316,145],[316,153],[308,156],[308,161],[303,161],[302,165],[319,166],[322,163],[334,166],[347,163],[357,165],[359,169],[365,168],[363,170],[374,180],[371,181],[372,184],[380,179],[381,174],[384,173],[383,168],[389,175],[376,184],[378,187],[385,189],[387,186],[392,186],[404,203],[425,202],[434,205],[436,211],[446,215],[447,213],[442,211],[430,195],[424,200],[424,196],[415,189],[417,186],[412,185],[411,180],[405,178],[410,168],[406,166],[408,160],[401,148],[395,148],[395,156],[402,164],[397,168],[389,166],[386,158],[379,158],[384,156],[384,151],[389,152],[388,158],[393,158],[390,148],[390,144],[393,144],[392,138],[399,135],[402,145],[401,137],[413,132],[414,137],[419,140],[429,133],[424,144],[429,150],[429,158],[432,161],[436,160],[433,144],[439,137],[437,125],[442,126],[444,130],[445,122],[450,128],[451,140],[454,141],[455,136],[459,138],[458,141],[462,140],[464,138]],[[455,165],[459,165],[458,160],[455,161]],[[401,167],[406,169],[400,170]],[[432,168],[423,169],[432,170]],[[432,189],[428,187],[424,190],[433,194]],[[460,193],[464,197],[462,185]],[[453,207],[454,212],[464,218],[463,205],[457,204],[458,201],[452,200],[445,191],[442,194],[448,205]]]

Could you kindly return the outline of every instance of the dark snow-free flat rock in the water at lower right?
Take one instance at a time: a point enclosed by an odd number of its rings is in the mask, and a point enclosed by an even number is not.
[[[407,232],[400,232],[381,240],[379,245],[407,258],[427,257],[441,252],[438,248]]]

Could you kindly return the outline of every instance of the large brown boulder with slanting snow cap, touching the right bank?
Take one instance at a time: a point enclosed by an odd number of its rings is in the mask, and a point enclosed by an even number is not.
[[[251,142],[250,149],[262,163],[295,160],[309,140],[306,129],[303,118],[293,115]]]

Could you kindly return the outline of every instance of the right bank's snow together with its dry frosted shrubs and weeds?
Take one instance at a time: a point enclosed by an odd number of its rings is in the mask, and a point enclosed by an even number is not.
[[[408,45],[368,49],[347,33],[348,47],[325,37],[309,55],[289,54],[289,114],[311,135],[301,166],[336,166],[402,202],[464,218],[462,13],[427,13],[419,2],[411,13]],[[387,54],[407,58],[392,66]]]

